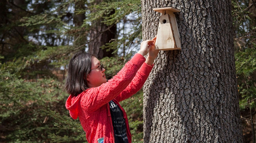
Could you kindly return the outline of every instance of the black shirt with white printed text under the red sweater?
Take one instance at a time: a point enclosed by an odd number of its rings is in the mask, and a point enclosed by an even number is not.
[[[128,143],[126,125],[122,110],[112,100],[109,103],[115,143]]]

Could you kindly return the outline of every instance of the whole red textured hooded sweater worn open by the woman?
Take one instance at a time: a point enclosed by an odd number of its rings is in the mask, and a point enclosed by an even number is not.
[[[108,82],[96,88],[90,88],[77,96],[69,95],[66,108],[70,116],[81,122],[89,143],[97,143],[104,137],[104,143],[114,143],[114,130],[108,102],[113,100],[122,110],[129,143],[132,137],[126,112],[119,102],[138,92],[147,80],[153,66],[147,65],[145,58],[135,54],[124,68]]]

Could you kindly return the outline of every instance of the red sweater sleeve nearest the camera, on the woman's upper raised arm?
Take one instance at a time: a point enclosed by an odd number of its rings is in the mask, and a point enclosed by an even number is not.
[[[135,54],[124,67],[108,82],[96,88],[90,88],[82,92],[81,107],[87,112],[93,112],[113,100],[123,91],[135,77],[145,58]]]

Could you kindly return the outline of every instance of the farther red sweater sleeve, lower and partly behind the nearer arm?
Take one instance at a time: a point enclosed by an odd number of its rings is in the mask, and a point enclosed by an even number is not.
[[[115,99],[120,102],[137,93],[148,79],[152,68],[153,65],[150,66],[146,63],[143,63],[136,76],[133,78],[132,82]]]

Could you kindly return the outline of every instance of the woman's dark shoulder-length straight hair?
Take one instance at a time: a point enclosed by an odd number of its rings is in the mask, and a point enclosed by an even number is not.
[[[89,89],[86,77],[91,71],[92,56],[94,55],[91,53],[80,51],[71,58],[65,83],[65,89],[69,94],[77,96]]]

